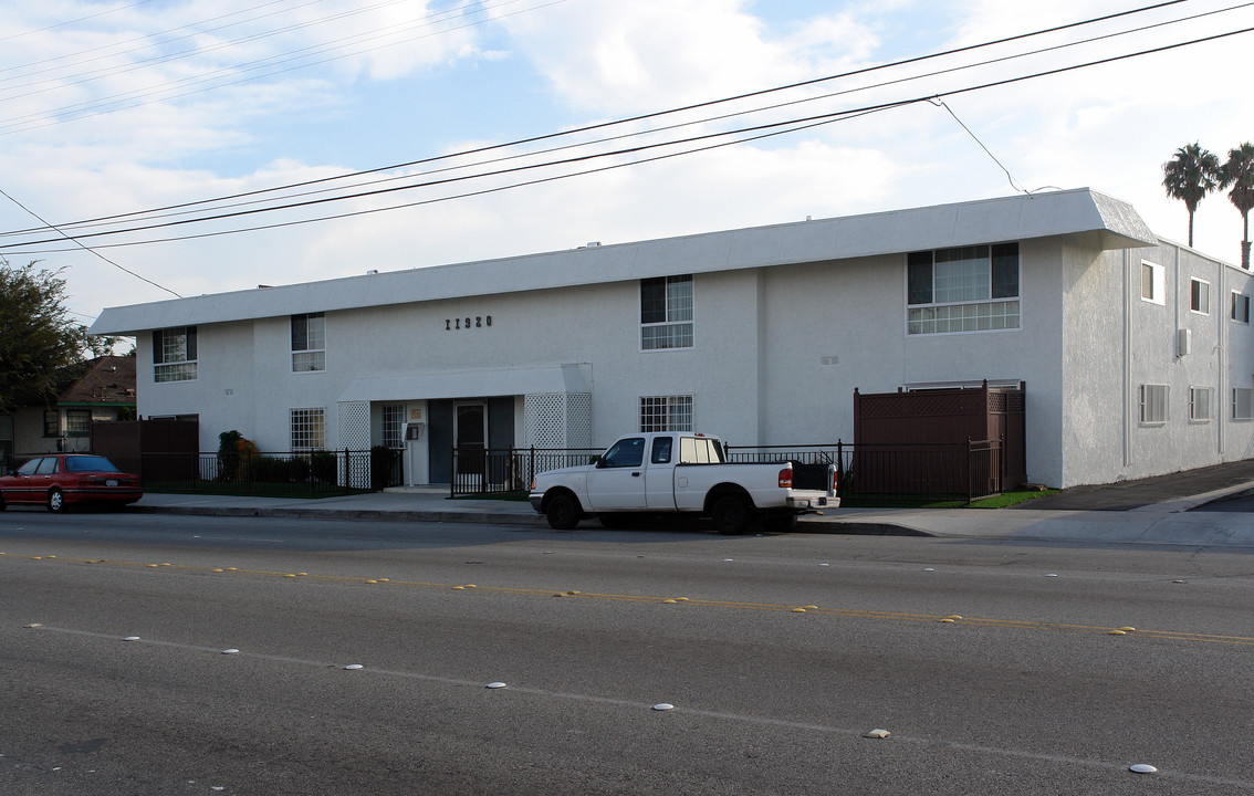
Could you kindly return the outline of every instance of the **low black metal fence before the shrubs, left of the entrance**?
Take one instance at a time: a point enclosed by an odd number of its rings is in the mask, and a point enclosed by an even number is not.
[[[401,451],[197,453],[114,455],[147,491],[311,498],[375,491],[400,484]]]

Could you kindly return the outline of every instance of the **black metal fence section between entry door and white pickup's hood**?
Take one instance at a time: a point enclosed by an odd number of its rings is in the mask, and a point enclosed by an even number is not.
[[[454,448],[449,495],[522,493],[537,473],[588,464],[601,453],[599,448]]]

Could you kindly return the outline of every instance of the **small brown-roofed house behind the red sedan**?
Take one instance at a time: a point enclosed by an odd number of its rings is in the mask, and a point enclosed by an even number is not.
[[[21,404],[0,415],[0,455],[16,460],[90,450],[93,421],[135,416],[135,357],[102,356],[63,367],[51,396],[30,395]]]

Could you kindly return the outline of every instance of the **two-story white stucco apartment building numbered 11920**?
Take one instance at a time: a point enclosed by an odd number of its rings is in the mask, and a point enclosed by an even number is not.
[[[1250,275],[1088,191],[107,308],[143,416],[262,450],[853,437],[853,391],[1026,382],[1028,480],[1254,455]]]

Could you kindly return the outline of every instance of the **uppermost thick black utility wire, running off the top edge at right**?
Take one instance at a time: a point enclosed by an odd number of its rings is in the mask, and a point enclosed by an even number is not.
[[[804,86],[815,85],[815,84],[819,84],[819,83],[826,83],[826,81],[831,81],[831,80],[836,80],[836,79],[844,79],[844,78],[850,78],[850,76],[855,76],[855,75],[868,74],[868,73],[879,71],[879,70],[884,70],[884,69],[890,69],[890,68],[897,68],[897,66],[904,66],[904,65],[908,65],[908,64],[927,61],[927,60],[938,59],[938,58],[944,58],[944,56],[948,56],[948,55],[954,55],[954,54],[959,54],[959,53],[967,53],[967,51],[972,51],[972,50],[977,50],[977,49],[982,49],[982,48],[989,48],[989,46],[994,46],[994,45],[998,45],[998,44],[1006,44],[1006,43],[1017,41],[1017,40],[1022,40],[1022,39],[1027,39],[1027,38],[1032,38],[1032,36],[1040,36],[1040,35],[1045,35],[1045,34],[1050,34],[1050,33],[1057,33],[1057,31],[1061,31],[1061,30],[1078,28],[1078,26],[1082,26],[1082,25],[1090,25],[1090,24],[1095,24],[1095,23],[1107,21],[1107,20],[1111,20],[1111,19],[1117,19],[1117,18],[1122,18],[1122,16],[1129,16],[1129,15],[1134,15],[1134,14],[1151,11],[1151,10],[1156,10],[1156,9],[1161,9],[1161,8],[1166,8],[1166,6],[1179,5],[1180,3],[1185,3],[1185,1],[1186,0],[1167,0],[1165,3],[1147,5],[1147,6],[1142,6],[1142,8],[1139,8],[1139,9],[1131,9],[1131,10],[1126,10],[1126,11],[1119,11],[1119,13],[1115,13],[1115,14],[1107,14],[1107,15],[1104,15],[1104,16],[1091,18],[1091,19],[1086,19],[1086,20],[1081,20],[1081,21],[1076,21],[1076,23],[1068,23],[1068,24],[1063,24],[1063,25],[1056,25],[1056,26],[1052,26],[1052,28],[1045,28],[1042,30],[1037,30],[1037,31],[1032,31],[1032,33],[1017,34],[1017,35],[1013,35],[1013,36],[1006,36],[1006,38],[1002,38],[1002,39],[996,39],[996,40],[986,41],[986,43],[981,43],[981,44],[972,44],[972,45],[966,45],[966,46],[961,46],[961,48],[954,48],[954,49],[944,50],[944,51],[940,51],[940,53],[933,53],[933,54],[929,54],[929,55],[920,55],[920,56],[902,59],[902,60],[893,61],[893,63],[889,63],[889,64],[880,64],[880,65],[877,65],[877,66],[867,66],[867,68],[863,68],[863,69],[855,69],[855,70],[850,70],[850,71],[845,71],[845,73],[840,73],[840,74],[826,75],[826,76],[823,76],[823,78],[814,78],[814,79],[809,79],[809,80],[803,80],[803,81],[798,81],[798,83],[791,83],[791,84],[786,84],[786,85],[780,85],[780,86],[770,88],[770,89],[761,89],[761,90],[756,90],[756,92],[749,92],[749,93],[744,93],[744,94],[726,97],[726,98],[722,98],[722,99],[707,100],[707,102],[695,103],[695,104],[683,105],[683,107],[678,107],[678,108],[671,108],[668,110],[660,110],[660,112],[652,112],[652,113],[647,113],[647,114],[640,114],[640,115],[630,117],[630,118],[626,118],[626,119],[618,119],[618,120],[613,120],[613,122],[602,122],[602,123],[598,123],[598,124],[591,124],[591,125],[586,125],[586,127],[581,127],[581,128],[576,128],[576,129],[571,129],[571,130],[563,130],[563,132],[559,132],[559,133],[548,133],[548,134],[543,134],[543,135],[534,135],[534,137],[530,137],[530,138],[523,138],[523,139],[518,139],[518,140],[513,140],[513,142],[507,142],[507,143],[500,143],[500,144],[490,144],[490,145],[487,145],[487,147],[479,147],[479,148],[474,148],[474,149],[466,149],[466,150],[461,150],[461,152],[456,152],[456,153],[450,153],[450,154],[444,154],[444,155],[436,155],[436,157],[430,157],[430,158],[421,158],[421,159],[418,159],[418,160],[409,160],[409,162],[405,162],[405,163],[395,163],[395,164],[391,164],[391,165],[384,165],[384,167],[377,167],[377,168],[371,168],[371,169],[364,169],[364,170],[359,170],[359,172],[351,172],[351,173],[347,173],[347,174],[339,174],[339,175],[335,175],[335,177],[324,177],[324,178],[311,179],[311,181],[302,181],[302,182],[296,182],[296,183],[288,183],[288,184],[285,184],[285,186],[276,186],[273,188],[261,188],[261,189],[256,189],[256,191],[247,191],[247,192],[228,194],[228,196],[217,197],[217,198],[212,198],[212,199],[201,199],[201,201],[196,201],[196,202],[183,202],[183,203],[178,203],[178,204],[168,204],[168,206],[153,208],[153,209],[149,209],[149,211],[135,211],[135,212],[130,212],[130,213],[119,213],[119,214],[114,214],[114,216],[102,216],[102,217],[89,218],[89,219],[85,219],[85,221],[82,221],[82,222],[73,222],[73,223],[66,223],[66,224],[61,224],[61,226],[69,228],[69,227],[75,227],[75,226],[79,226],[79,224],[88,224],[88,223],[104,222],[104,221],[117,221],[117,219],[129,218],[129,217],[137,217],[137,216],[148,216],[148,214],[152,214],[152,213],[159,213],[159,212],[164,212],[164,211],[173,211],[173,209],[181,209],[181,208],[187,208],[187,207],[198,207],[198,206],[203,206],[203,204],[214,204],[214,203],[227,202],[227,201],[232,201],[232,199],[240,199],[240,198],[247,198],[247,197],[255,197],[255,196],[263,196],[263,194],[267,194],[267,193],[277,193],[277,192],[283,192],[283,191],[292,191],[295,188],[303,188],[303,187],[307,187],[307,186],[325,184],[325,183],[335,182],[335,181],[350,179],[350,178],[362,177],[362,175],[367,175],[367,174],[376,174],[376,173],[386,172],[386,170],[395,170],[395,169],[410,168],[410,167],[416,167],[416,165],[425,165],[425,164],[435,163],[435,162],[440,162],[440,160],[449,160],[449,159],[463,158],[463,157],[474,155],[474,154],[483,154],[483,153],[488,153],[488,152],[495,152],[495,150],[500,150],[500,149],[507,149],[507,148],[510,148],[510,147],[522,147],[522,145],[527,145],[527,144],[533,144],[533,143],[540,143],[540,142],[545,142],[545,140],[552,140],[552,139],[556,139],[556,138],[563,138],[563,137],[569,137],[569,135],[578,135],[578,134],[582,134],[582,133],[589,133],[589,132],[594,132],[594,130],[607,129],[607,128],[611,128],[611,127],[632,124],[632,123],[636,123],[636,122],[643,122],[643,120],[655,119],[655,118],[660,118],[660,117],[666,117],[666,115],[671,115],[671,114],[685,113],[685,112],[688,112],[688,110],[697,110],[697,109],[702,109],[702,108],[710,108],[710,107],[715,107],[715,105],[720,105],[720,104],[725,104],[725,103],[732,103],[732,102],[737,102],[737,100],[742,100],[742,99],[751,99],[751,98],[755,98],[755,97],[762,97],[762,95],[767,95],[767,94],[772,94],[772,93],[779,93],[779,92],[786,92],[786,90],[791,90],[791,89],[804,88]],[[1236,8],[1241,8],[1241,6],[1236,6]],[[798,100],[798,102],[801,102],[801,100]],[[785,103],[785,104],[789,104],[789,103]],[[736,114],[729,114],[729,115],[736,115]],[[722,118],[722,117],[719,117],[719,118]],[[3,233],[3,234],[20,234],[20,233],[29,233],[29,232],[35,232],[35,231],[36,229],[24,229],[24,231],[15,231],[13,233]]]

